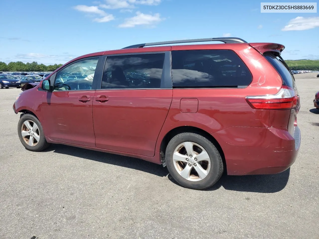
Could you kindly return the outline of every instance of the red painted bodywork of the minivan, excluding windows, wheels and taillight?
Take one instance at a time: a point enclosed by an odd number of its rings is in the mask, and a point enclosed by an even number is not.
[[[87,54],[72,61],[97,55],[230,49],[248,67],[252,82],[245,88],[233,89],[112,89],[52,93],[39,91],[36,86],[21,93],[13,109],[15,112],[33,112],[39,118],[48,142],[158,164],[161,163],[160,146],[165,135],[177,127],[196,127],[219,143],[228,174],[278,173],[289,168],[298,153],[292,136],[297,125],[297,112],[294,109],[256,110],[245,97],[273,95],[280,90],[282,78],[262,54],[266,51],[280,53],[283,47],[274,43],[232,43],[143,47]],[[90,101],[78,101],[83,95]]]

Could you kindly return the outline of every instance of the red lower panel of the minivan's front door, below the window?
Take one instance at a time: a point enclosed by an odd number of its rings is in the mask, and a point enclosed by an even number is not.
[[[44,92],[42,127],[51,140],[95,147],[92,104],[95,90]],[[81,102],[79,97],[89,96]]]

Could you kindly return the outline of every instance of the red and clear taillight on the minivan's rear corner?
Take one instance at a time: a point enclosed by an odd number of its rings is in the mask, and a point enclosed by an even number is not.
[[[247,96],[246,101],[258,110],[286,110],[296,107],[297,95],[293,88],[283,85],[275,95]]]

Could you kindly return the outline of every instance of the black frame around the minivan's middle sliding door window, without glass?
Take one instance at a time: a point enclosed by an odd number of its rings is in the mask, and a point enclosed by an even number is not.
[[[112,89],[102,89],[102,76],[104,72],[104,68],[106,66],[106,60],[109,56],[126,56],[126,55],[147,55],[147,54],[164,54],[164,64],[162,69],[162,78],[160,88],[112,88]],[[102,65],[104,64],[104,65]],[[103,66],[103,67],[102,67]],[[155,52],[133,52],[133,53],[120,53],[120,54],[108,54],[103,55],[103,59],[101,61],[101,76],[99,77],[96,86],[96,90],[167,90],[173,89],[173,82],[172,82],[172,64],[171,64],[171,51],[155,51]]]

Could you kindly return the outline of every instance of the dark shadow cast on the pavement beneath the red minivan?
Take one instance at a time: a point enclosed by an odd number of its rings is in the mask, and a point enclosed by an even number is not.
[[[140,170],[151,173],[159,177],[168,177],[170,181],[178,185],[172,176],[168,173],[167,168],[162,165],[147,162],[141,159],[108,154],[104,152],[88,150],[83,148],[76,148],[61,144],[53,144],[47,150],[54,153],[70,155],[89,160],[94,160],[101,163],[108,163],[130,169]],[[230,176],[225,172],[219,181],[206,191],[214,191],[220,187],[226,190],[240,191],[240,192],[262,192],[272,193],[279,192],[285,188],[290,175],[290,168],[278,174],[270,175],[247,175],[247,176]]]

